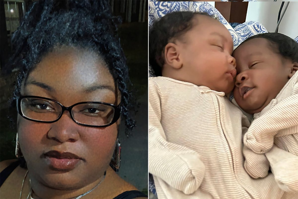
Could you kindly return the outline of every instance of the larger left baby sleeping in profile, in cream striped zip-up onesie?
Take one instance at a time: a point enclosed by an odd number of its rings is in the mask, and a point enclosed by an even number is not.
[[[204,13],[173,12],[149,31],[149,172],[158,198],[281,198],[272,174],[243,168],[250,123],[235,86],[229,31]]]

